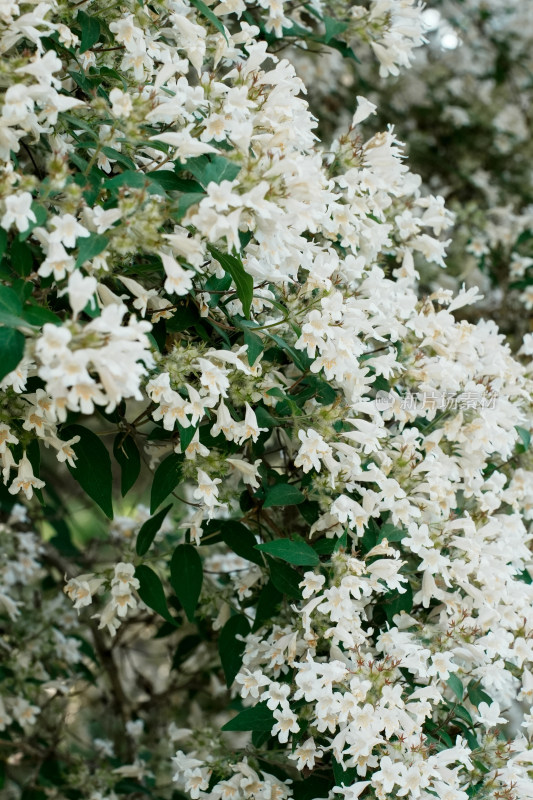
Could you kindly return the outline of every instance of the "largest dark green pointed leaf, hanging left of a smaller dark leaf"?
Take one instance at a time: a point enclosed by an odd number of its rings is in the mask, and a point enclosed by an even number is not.
[[[74,467],[68,465],[69,472],[104,514],[113,519],[113,475],[107,448],[99,436],[82,425],[63,428],[63,439],[72,439],[74,436],[79,436],[80,441],[72,446],[77,459]]]

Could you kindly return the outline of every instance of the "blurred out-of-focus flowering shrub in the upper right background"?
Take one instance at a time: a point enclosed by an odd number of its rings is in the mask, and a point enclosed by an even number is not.
[[[488,313],[506,333],[521,335],[530,314],[517,318],[516,307],[533,308],[533,192],[525,166],[532,157],[529,8],[435,0],[421,20],[427,46],[410,54],[411,69],[394,72],[392,80],[381,80],[375,59],[357,46],[360,64],[334,49],[313,57],[295,50],[291,58],[309,87],[311,108],[323,109],[324,135],[349,117],[358,91],[378,106],[376,129],[394,122],[411,168],[455,214],[447,286],[463,280],[480,286],[484,300],[469,318]],[[400,31],[405,24],[402,14]],[[428,286],[443,283],[431,268],[423,267],[423,278]]]

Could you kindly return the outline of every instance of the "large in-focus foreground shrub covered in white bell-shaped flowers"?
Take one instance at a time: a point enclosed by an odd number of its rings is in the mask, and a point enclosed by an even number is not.
[[[421,6],[1,14],[8,796],[533,797],[533,335],[419,296],[443,199],[283,57]]]

